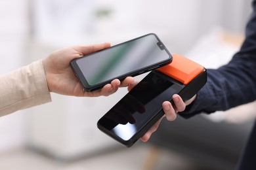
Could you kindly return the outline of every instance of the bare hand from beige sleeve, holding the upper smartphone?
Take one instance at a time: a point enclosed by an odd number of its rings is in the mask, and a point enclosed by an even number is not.
[[[47,58],[42,60],[49,91],[63,95],[97,97],[100,95],[110,95],[116,92],[119,87],[133,84],[133,77],[127,77],[122,82],[117,79],[112,80],[110,84],[106,84],[100,90],[93,92],[83,91],[83,87],[79,84],[70,67],[70,61],[108,47],[110,47],[110,43],[105,42],[102,44],[71,46],[51,53]]]

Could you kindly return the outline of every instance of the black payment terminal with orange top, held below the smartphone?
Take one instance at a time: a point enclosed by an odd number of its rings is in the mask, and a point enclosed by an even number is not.
[[[163,101],[179,94],[193,97],[206,83],[206,69],[179,54],[168,65],[151,71],[97,122],[98,128],[127,147],[136,143],[164,114]]]

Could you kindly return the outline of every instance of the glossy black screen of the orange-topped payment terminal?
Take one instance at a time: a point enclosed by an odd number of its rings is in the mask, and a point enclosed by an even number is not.
[[[182,89],[179,84],[152,71],[98,121],[98,127],[108,135],[129,141],[160,110],[163,101]]]

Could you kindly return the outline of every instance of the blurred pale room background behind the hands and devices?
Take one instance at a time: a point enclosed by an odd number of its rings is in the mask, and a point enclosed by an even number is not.
[[[217,68],[239,49],[250,12],[251,0],[2,0],[0,73],[66,46],[114,45],[152,32],[171,53]],[[52,103],[1,117],[0,169],[234,169],[255,102],[163,121],[148,143],[125,148],[96,127],[125,93],[53,93]]]

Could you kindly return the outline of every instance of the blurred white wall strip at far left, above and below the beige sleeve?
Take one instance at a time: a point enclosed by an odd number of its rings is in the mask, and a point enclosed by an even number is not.
[[[28,38],[26,0],[0,1],[0,74],[24,65]],[[1,86],[1,82],[0,82]],[[0,152],[16,148],[26,140],[24,111],[0,118]]]

